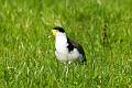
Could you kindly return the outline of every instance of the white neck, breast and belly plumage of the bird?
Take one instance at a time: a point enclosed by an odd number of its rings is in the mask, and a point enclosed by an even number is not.
[[[56,35],[55,38],[55,55],[58,61],[61,62],[72,62],[72,61],[81,61],[82,55],[79,54],[77,48],[74,48],[74,51],[68,52],[67,48],[67,37],[65,33],[59,33]]]

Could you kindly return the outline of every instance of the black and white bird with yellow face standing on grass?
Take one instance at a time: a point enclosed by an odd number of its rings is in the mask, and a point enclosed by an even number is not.
[[[85,62],[85,52],[80,44],[72,41],[61,26],[54,26],[53,35],[55,36],[55,55],[59,62]]]

